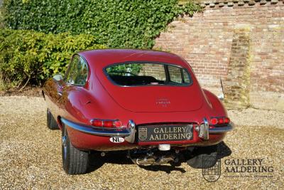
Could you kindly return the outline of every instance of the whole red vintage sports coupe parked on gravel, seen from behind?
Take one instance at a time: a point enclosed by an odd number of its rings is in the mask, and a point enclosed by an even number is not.
[[[48,127],[62,131],[67,174],[87,172],[89,154],[126,150],[139,165],[194,168],[217,162],[233,129],[219,99],[200,87],[173,53],[105,49],[72,56],[67,73],[46,81]],[[202,164],[202,157],[210,162]]]

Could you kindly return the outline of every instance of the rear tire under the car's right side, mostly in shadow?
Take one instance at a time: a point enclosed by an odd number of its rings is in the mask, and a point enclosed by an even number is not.
[[[190,158],[187,159],[187,164],[196,169],[214,167],[217,162],[217,147],[218,144],[210,147],[196,148],[190,155]],[[203,157],[206,157],[206,162],[202,161]]]

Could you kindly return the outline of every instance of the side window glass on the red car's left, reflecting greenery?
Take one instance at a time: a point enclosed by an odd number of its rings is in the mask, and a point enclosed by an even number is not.
[[[80,56],[75,56],[66,75],[66,83],[82,86],[86,83],[87,76],[87,63]]]

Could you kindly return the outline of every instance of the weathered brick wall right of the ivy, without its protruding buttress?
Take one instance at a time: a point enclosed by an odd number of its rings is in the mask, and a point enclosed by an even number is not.
[[[219,88],[220,78],[226,80],[228,76],[236,30],[247,29],[250,38],[249,93],[278,93],[283,101],[283,0],[200,0],[198,3],[204,6],[204,11],[170,23],[156,38],[155,48],[182,56],[192,65],[203,86]]]

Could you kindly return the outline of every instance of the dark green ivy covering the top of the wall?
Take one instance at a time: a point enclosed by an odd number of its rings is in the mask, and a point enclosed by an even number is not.
[[[152,48],[176,16],[201,10],[178,0],[6,0],[4,8],[9,28],[88,33],[111,48]]]

